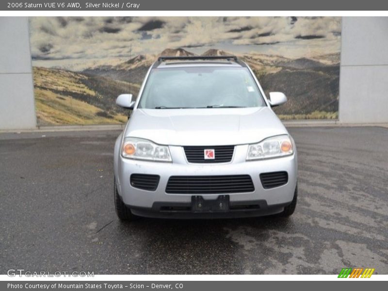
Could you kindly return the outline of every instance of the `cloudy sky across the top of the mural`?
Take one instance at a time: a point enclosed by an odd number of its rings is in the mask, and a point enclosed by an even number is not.
[[[179,47],[199,54],[216,48],[309,57],[339,52],[341,33],[340,17],[32,17],[30,22],[38,65]]]

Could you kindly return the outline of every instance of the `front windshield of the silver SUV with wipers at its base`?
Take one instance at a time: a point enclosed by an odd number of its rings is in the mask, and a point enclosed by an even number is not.
[[[245,67],[152,69],[138,108],[234,108],[266,106]]]

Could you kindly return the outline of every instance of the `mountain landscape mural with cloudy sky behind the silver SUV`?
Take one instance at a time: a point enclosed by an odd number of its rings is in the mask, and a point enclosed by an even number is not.
[[[340,17],[31,17],[39,125],[116,124],[161,55],[237,55],[282,119],[338,116]]]

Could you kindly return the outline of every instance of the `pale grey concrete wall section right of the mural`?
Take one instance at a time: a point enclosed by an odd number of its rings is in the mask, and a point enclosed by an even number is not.
[[[388,123],[388,17],[342,17],[341,123]]]

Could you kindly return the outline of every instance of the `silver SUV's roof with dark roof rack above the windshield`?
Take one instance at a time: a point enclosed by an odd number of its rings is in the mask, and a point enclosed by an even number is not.
[[[247,65],[236,56],[161,56],[152,65],[153,68],[195,66],[242,67]]]

